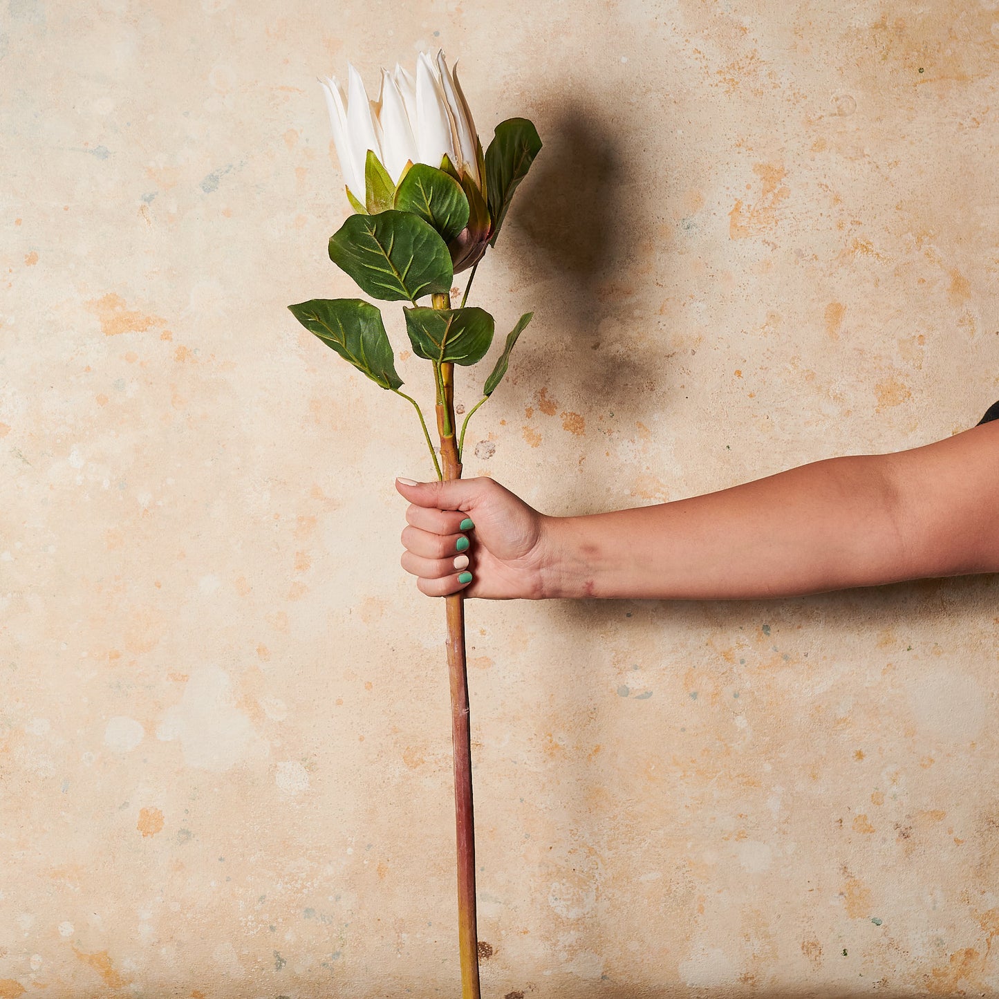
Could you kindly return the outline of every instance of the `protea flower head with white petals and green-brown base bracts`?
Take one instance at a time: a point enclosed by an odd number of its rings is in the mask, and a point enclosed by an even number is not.
[[[320,82],[354,209],[375,214],[394,207],[392,193],[415,163],[440,169],[461,184],[469,202],[468,224],[448,240],[455,271],[477,263],[492,235],[483,146],[443,50],[436,60],[419,55],[415,80],[398,64],[393,73],[383,69],[377,101],[369,99],[361,74],[350,64],[347,95],[335,77]]]

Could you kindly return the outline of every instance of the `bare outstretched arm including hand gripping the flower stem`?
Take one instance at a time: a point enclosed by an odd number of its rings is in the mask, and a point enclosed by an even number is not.
[[[470,596],[735,599],[999,571],[999,422],[588,516],[544,516],[491,480],[400,492],[403,565],[432,595],[465,588],[446,549],[466,515]]]

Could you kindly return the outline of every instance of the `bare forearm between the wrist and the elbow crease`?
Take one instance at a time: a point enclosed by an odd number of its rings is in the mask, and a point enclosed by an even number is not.
[[[908,578],[889,459],[831,459],[690,500],[548,518],[543,593],[738,599]]]

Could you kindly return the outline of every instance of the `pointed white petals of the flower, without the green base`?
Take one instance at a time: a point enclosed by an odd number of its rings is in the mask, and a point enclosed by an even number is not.
[[[457,68],[457,64],[456,64]],[[348,64],[348,91],[335,78],[320,81],[333,125],[333,141],[349,192],[365,201],[365,161],[372,150],[394,184],[408,163],[440,167],[445,156],[460,175],[482,190],[479,136],[457,73],[444,52],[436,64],[428,53],[417,58],[416,80],[401,66],[382,70],[378,100],[372,101],[361,74]]]

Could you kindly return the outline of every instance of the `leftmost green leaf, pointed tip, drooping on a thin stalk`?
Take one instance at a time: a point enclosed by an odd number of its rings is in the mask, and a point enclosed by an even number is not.
[[[307,330],[383,389],[395,392],[403,384],[382,313],[370,302],[313,299],[288,308]]]

